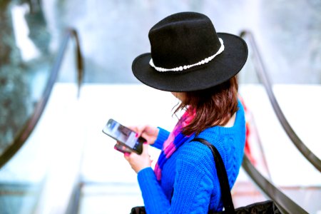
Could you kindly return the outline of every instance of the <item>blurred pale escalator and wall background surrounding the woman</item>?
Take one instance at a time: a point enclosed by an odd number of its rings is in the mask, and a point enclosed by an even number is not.
[[[108,118],[175,126],[178,101],[143,86],[131,63],[150,51],[149,29],[180,11],[248,42],[238,77],[251,136],[235,207],[271,198],[284,213],[321,213],[319,0],[0,0],[0,213],[143,205],[101,129]]]

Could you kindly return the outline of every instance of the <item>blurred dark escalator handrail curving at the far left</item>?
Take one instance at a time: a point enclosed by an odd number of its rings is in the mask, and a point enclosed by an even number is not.
[[[63,56],[67,49],[68,41],[71,38],[75,39],[75,42],[76,42],[76,60],[77,60],[77,71],[78,71],[77,83],[78,83],[78,96],[79,96],[81,83],[83,81],[83,57],[81,55],[81,49],[80,49],[78,34],[76,30],[67,29],[66,35],[64,36],[60,49],[58,50],[56,61],[54,62],[54,66],[51,70],[44,93],[42,94],[38,103],[36,103],[36,107],[34,108],[34,113],[30,116],[28,121],[26,121],[23,128],[21,128],[21,131],[16,135],[13,143],[11,143],[11,146],[6,148],[4,153],[1,155],[0,168],[2,168],[2,166],[6,164],[17,151],[19,151],[21,146],[23,146],[26,140],[29,138],[32,131],[34,131],[36,124],[38,123],[42,113],[44,112],[46,103],[49,100],[51,90],[54,87],[54,83],[56,82],[58,71],[61,67]]]

